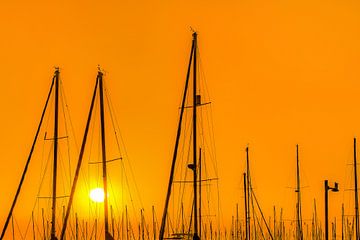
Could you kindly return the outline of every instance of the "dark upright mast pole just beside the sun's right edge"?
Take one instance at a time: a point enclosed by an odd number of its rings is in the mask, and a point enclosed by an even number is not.
[[[107,174],[106,174],[106,142],[105,142],[105,116],[104,116],[104,87],[103,87],[103,73],[98,72],[99,77],[99,91],[100,91],[100,122],[101,122],[101,151],[102,151],[102,167],[103,167],[103,184],[104,184],[104,224],[105,224],[105,239],[109,234],[109,212],[108,212],[108,189],[107,189]]]

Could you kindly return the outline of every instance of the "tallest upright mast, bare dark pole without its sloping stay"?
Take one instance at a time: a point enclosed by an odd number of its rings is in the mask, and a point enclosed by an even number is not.
[[[194,65],[193,65],[193,171],[194,171],[194,236],[193,239],[199,239],[198,235],[198,209],[197,209],[197,139],[196,139],[196,51],[197,51],[197,33],[193,33],[194,38]]]

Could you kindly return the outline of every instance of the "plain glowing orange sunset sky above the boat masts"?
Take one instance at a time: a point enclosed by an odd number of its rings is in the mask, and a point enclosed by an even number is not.
[[[295,184],[299,144],[304,218],[311,218],[313,198],[323,216],[326,178],[340,183],[342,191],[331,194],[340,218],[341,202],[349,201],[343,190],[351,188],[352,141],[360,136],[355,1],[3,1],[0,9],[1,222],[54,66],[61,69],[78,139],[97,65],[106,71],[144,204],[162,211],[190,26],[199,32],[213,103],[224,217],[231,219],[243,201],[249,144],[263,210],[284,207],[293,218],[295,193],[288,187]]]

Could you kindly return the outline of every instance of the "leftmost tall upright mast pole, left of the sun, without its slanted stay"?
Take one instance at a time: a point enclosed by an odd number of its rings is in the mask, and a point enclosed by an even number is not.
[[[53,193],[51,207],[51,240],[55,236],[56,224],[56,179],[57,179],[57,158],[58,158],[58,131],[59,131],[59,69],[55,70],[55,120],[54,120],[54,166],[53,166]]]

